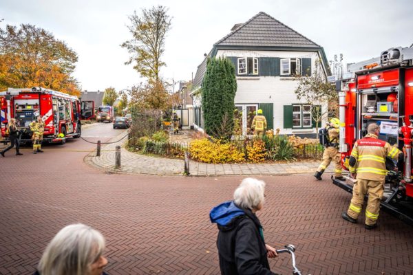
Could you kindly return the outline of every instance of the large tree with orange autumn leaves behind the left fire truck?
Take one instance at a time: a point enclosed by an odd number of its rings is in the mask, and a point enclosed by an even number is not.
[[[47,30],[30,24],[0,28],[0,91],[45,87],[79,96],[72,76],[77,61],[76,52]]]

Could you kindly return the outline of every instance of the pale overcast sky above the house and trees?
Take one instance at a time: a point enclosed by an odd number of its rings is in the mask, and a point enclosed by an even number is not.
[[[131,39],[128,15],[151,5],[167,6],[173,17],[161,69],[167,80],[191,80],[213,43],[261,11],[324,47],[328,60],[342,53],[345,63],[363,61],[413,43],[412,0],[0,0],[0,27],[30,23],[52,32],[77,52],[83,90],[119,91],[142,81],[120,47]]]

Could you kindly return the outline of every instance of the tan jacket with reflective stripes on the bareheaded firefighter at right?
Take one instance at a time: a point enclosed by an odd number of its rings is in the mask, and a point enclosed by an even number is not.
[[[379,140],[377,135],[367,134],[354,144],[351,156],[357,162],[354,166],[350,166],[350,173],[357,173],[358,179],[384,180],[387,175],[385,157],[397,159],[399,153],[401,151],[398,148]]]

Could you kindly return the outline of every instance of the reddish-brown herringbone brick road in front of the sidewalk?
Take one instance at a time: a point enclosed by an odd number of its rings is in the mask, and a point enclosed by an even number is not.
[[[102,173],[83,164],[85,152],[70,151],[92,146],[71,140],[55,151],[0,158],[0,274],[32,274],[54,234],[75,222],[103,232],[109,274],[219,274],[218,230],[208,214],[243,177]],[[343,221],[351,196],[327,179],[260,178],[266,242],[293,243],[304,274],[412,274],[412,227],[385,212],[371,232]],[[288,255],[270,265],[290,274]]]

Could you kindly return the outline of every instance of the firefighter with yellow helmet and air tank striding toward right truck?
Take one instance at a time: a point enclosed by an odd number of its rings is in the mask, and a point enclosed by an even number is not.
[[[323,175],[324,170],[328,167],[331,161],[335,164],[335,178],[344,179],[341,175],[341,153],[339,153],[339,124],[340,120],[338,118],[332,118],[326,126],[327,130],[327,144],[325,144],[326,149],[323,153],[323,162],[321,162],[317,172],[315,172],[315,178],[321,180],[321,175]]]

